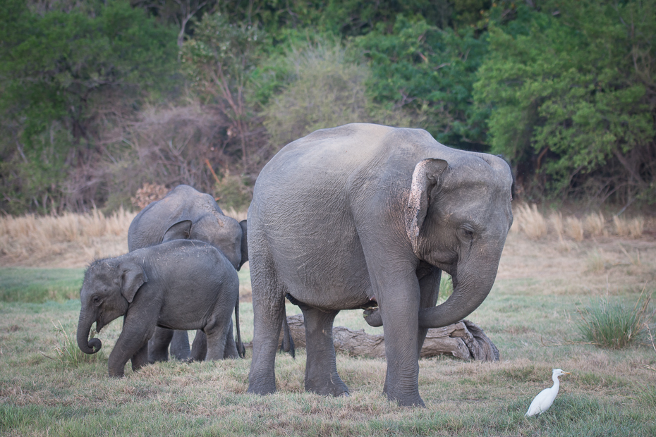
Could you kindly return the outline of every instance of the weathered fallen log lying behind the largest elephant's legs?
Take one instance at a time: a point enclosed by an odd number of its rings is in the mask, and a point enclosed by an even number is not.
[[[305,326],[303,314],[288,316],[287,323],[291,338],[296,347],[305,347]],[[354,331],[344,326],[334,326],[332,331],[336,351],[358,357],[385,357],[385,339],[382,335],[365,333],[364,329]],[[282,345],[282,333],[280,336]],[[253,347],[252,344],[245,345]],[[497,361],[499,350],[483,330],[468,320],[443,328],[428,330],[421,349],[421,357],[452,355],[459,359],[476,359],[480,361]]]

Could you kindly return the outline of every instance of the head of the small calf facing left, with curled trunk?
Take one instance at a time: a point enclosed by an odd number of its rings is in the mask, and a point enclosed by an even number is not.
[[[128,311],[137,290],[148,281],[142,266],[133,261],[100,259],[92,262],[85,272],[80,290],[80,320],[78,321],[78,347],[86,354],[98,352],[102,343],[89,340],[91,325],[96,331]]]

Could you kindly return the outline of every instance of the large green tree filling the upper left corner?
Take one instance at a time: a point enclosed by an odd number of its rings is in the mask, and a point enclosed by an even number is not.
[[[103,125],[171,83],[176,30],[119,0],[40,13],[6,0],[0,16],[2,207],[84,209],[102,199],[80,168],[97,160]]]

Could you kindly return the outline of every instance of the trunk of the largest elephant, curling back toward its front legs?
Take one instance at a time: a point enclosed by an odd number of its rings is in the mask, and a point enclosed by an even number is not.
[[[459,263],[462,264],[462,263]],[[420,309],[420,328],[441,328],[461,321],[482,304],[492,290],[497,278],[497,262],[493,268],[480,269],[478,266],[458,265],[458,272],[453,276],[454,292],[446,302],[437,307]]]

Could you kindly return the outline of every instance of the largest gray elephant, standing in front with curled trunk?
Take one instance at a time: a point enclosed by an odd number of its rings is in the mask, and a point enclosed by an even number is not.
[[[317,130],[274,156],[255,184],[248,247],[255,332],[250,393],[276,390],[286,295],[305,317],[305,389],[348,395],[335,363],[341,309],[379,309],[384,393],[424,405],[419,352],[427,328],[473,312],[497,275],[512,223],[511,171],[450,149],[425,130],[351,124]],[[454,292],[435,307],[442,271]]]

